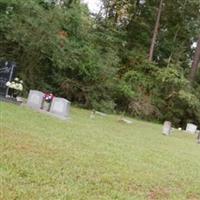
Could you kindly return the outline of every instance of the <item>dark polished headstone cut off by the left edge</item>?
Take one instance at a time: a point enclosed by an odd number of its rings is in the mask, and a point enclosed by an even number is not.
[[[9,88],[6,86],[8,81],[12,81],[15,75],[16,64],[8,61],[0,61],[0,96],[6,97]]]

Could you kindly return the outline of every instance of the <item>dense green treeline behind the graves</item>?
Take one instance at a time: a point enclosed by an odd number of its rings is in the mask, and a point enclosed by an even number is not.
[[[78,0],[0,0],[0,59],[20,66],[25,94],[200,124],[200,2],[102,2],[91,15]]]

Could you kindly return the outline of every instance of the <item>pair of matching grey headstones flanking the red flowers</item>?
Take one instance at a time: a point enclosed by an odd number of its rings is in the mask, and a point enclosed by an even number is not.
[[[43,92],[30,90],[27,106],[37,110],[43,109],[44,95]],[[64,98],[54,97],[50,104],[49,113],[66,119],[69,117],[70,104],[70,101]]]

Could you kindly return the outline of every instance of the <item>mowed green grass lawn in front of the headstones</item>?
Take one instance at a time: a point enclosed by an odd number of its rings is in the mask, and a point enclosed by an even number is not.
[[[119,116],[68,122],[0,103],[1,200],[200,199],[195,136]]]

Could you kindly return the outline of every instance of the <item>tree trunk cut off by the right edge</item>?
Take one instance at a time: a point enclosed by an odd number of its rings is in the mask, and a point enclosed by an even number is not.
[[[194,58],[192,61],[192,69],[190,72],[190,81],[191,82],[193,82],[195,80],[199,63],[200,63],[200,37],[198,39],[197,48],[195,50]]]

